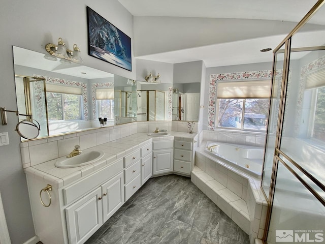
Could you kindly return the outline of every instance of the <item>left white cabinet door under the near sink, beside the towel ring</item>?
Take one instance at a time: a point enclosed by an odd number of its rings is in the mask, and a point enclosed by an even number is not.
[[[101,188],[66,208],[69,243],[83,243],[103,225]]]

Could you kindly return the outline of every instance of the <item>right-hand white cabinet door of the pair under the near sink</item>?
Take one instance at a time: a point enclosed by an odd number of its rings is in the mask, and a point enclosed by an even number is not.
[[[102,185],[104,223],[111,218],[117,209],[124,203],[123,178],[123,172],[121,172]]]

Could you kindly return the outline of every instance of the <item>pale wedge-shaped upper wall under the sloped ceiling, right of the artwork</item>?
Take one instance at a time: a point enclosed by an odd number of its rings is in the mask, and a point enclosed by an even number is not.
[[[134,16],[135,56],[288,34],[294,22]],[[304,26],[305,29],[319,26]]]

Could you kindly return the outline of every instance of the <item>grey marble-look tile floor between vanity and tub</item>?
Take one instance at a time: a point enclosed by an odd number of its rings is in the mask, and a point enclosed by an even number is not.
[[[190,178],[149,179],[86,244],[249,244]]]

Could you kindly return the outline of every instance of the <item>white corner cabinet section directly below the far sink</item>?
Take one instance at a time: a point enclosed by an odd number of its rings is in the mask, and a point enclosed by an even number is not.
[[[165,174],[174,170],[174,140],[153,141],[153,175]]]

